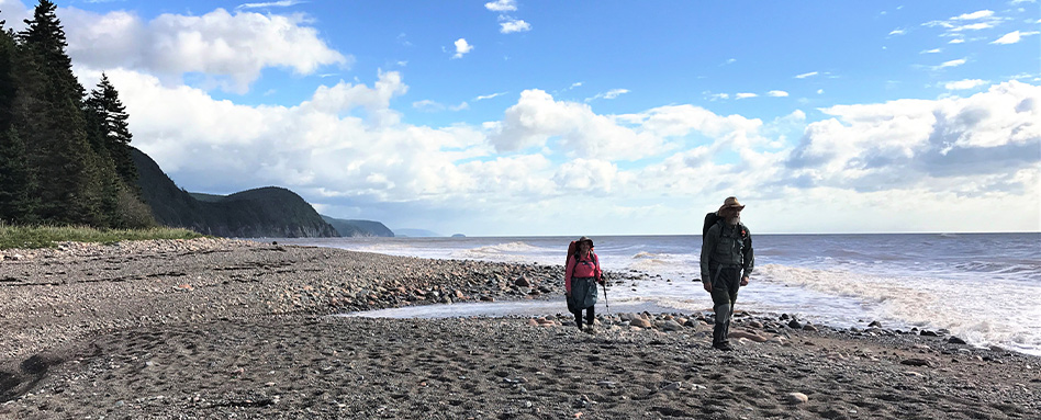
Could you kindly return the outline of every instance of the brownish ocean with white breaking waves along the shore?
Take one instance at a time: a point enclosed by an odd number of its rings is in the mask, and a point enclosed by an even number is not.
[[[563,264],[571,237],[305,238],[280,243],[430,259]],[[647,280],[608,290],[609,304],[709,310],[697,282],[699,236],[593,237],[608,271]],[[816,323],[945,329],[975,345],[1041,355],[1041,234],[757,235],[755,271],[738,309]],[[561,305],[563,304],[561,299]],[[480,304],[471,304],[478,305]],[[524,313],[524,303],[493,311]],[[546,305],[546,303],[530,305]],[[474,314],[473,306],[404,316]],[[505,315],[505,314],[501,314]]]

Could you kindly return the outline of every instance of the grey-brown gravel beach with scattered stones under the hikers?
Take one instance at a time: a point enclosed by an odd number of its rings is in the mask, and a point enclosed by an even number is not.
[[[63,243],[0,251],[0,294],[4,419],[1041,419],[1041,357],[944,331],[739,313],[719,352],[710,314],[334,316],[559,299],[560,266]]]

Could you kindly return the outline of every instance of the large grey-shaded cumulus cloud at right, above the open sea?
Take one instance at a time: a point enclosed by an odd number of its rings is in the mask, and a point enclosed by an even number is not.
[[[1041,88],[1009,81],[969,98],[820,110],[786,164],[791,184],[857,191],[1022,192],[1041,161]]]

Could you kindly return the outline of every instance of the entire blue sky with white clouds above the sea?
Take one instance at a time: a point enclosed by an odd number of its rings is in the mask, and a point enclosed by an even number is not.
[[[1038,0],[55,3],[192,192],[443,235],[697,235],[731,195],[761,234],[1041,231]]]

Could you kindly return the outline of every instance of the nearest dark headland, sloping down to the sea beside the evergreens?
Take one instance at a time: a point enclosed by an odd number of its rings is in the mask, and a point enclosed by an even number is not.
[[[132,148],[131,156],[139,174],[142,198],[161,225],[233,238],[340,236],[314,207],[287,189],[267,186],[226,196],[189,193],[148,155]]]

